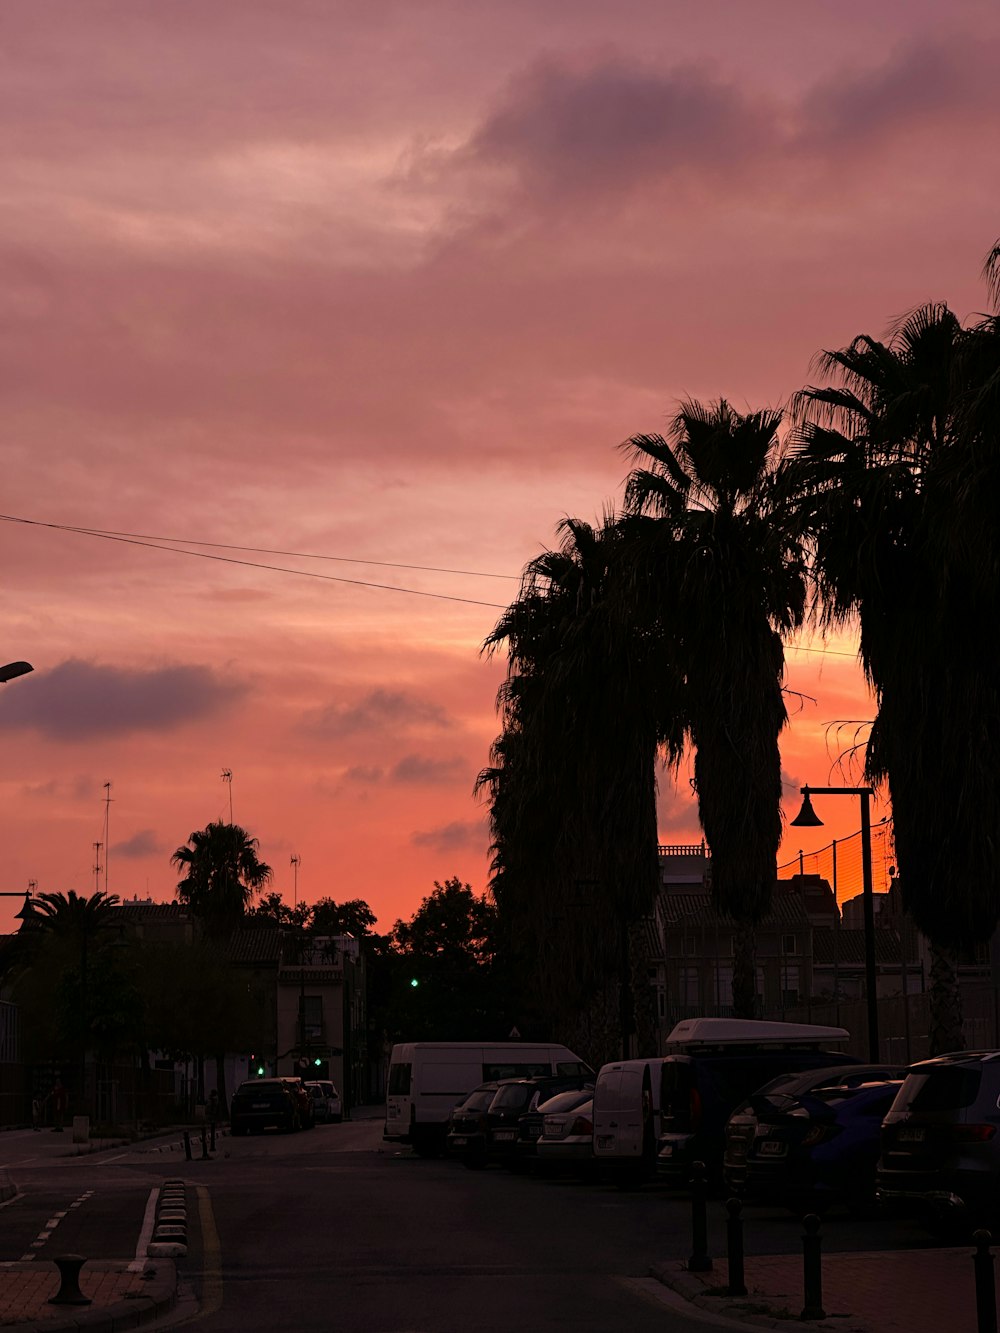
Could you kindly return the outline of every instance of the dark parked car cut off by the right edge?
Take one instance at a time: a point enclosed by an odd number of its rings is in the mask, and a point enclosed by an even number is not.
[[[1000,1050],[959,1050],[911,1068],[883,1121],[880,1202],[932,1229],[1000,1214]]]

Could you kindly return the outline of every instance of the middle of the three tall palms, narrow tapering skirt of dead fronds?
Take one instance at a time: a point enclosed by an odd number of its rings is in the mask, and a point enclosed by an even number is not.
[[[756,1012],[752,930],[771,906],[781,840],[781,635],[805,608],[797,521],[779,484],[780,424],[780,412],[685,401],[669,440],[641,435],[625,445],[641,463],[625,511],[655,520],[640,531],[636,563],[683,672],[712,894],[737,926],[733,1008],[743,1017]],[[657,579],[661,567],[668,576]]]

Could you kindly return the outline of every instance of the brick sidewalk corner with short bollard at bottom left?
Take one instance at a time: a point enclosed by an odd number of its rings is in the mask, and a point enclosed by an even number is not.
[[[49,1305],[59,1270],[45,1260],[0,1264],[0,1328],[44,1333],[117,1333],[173,1308],[177,1270],[172,1260],[92,1260],[80,1273],[80,1290],[92,1305]]]

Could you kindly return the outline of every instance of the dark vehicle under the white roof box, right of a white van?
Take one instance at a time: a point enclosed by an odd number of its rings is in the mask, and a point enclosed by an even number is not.
[[[860,1061],[813,1046],[723,1046],[665,1057],[660,1076],[657,1177],[687,1185],[692,1164],[700,1161],[709,1178],[720,1181],[725,1125],[755,1089],[783,1074],[847,1064]]]

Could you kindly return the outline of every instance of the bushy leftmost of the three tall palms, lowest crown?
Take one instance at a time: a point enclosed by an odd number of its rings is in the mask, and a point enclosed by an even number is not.
[[[656,778],[663,674],[652,641],[623,615],[623,528],[567,519],[561,545],[525,569],[487,652],[501,645],[501,734],[479,778],[491,801],[501,940],[553,1025],[595,1057],[628,1045],[639,957],[628,933],[657,888]],[[669,745],[671,738],[667,737]],[[609,1000],[617,980],[617,996]],[[645,972],[643,970],[645,981]],[[619,1033],[596,1021],[617,1009]],[[585,1014],[589,1036],[580,1032]],[[641,1036],[649,1024],[641,1024]]]

